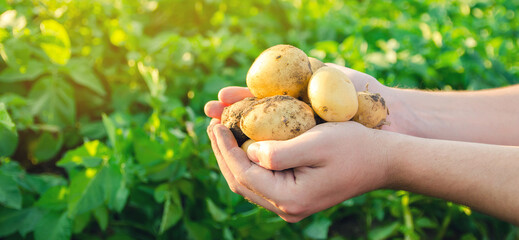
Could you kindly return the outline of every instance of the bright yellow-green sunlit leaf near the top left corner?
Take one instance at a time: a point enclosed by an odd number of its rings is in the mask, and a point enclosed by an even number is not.
[[[67,64],[70,59],[70,39],[67,30],[55,20],[44,20],[40,24],[43,35],[41,48],[53,63]]]

